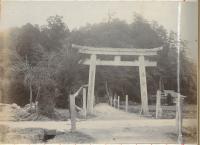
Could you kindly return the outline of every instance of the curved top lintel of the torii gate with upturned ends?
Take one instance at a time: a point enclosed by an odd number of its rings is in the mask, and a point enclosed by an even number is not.
[[[78,48],[79,53],[99,54],[99,55],[157,55],[162,47],[140,49],[140,48],[109,48],[109,47],[89,47],[72,44],[72,47]]]

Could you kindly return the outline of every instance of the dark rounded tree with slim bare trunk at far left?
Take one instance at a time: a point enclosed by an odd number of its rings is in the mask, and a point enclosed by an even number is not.
[[[34,69],[42,55],[39,44],[40,30],[36,26],[26,24],[11,32],[13,32],[10,36],[12,73],[16,78],[23,76],[23,84],[29,89],[29,103],[32,110]]]

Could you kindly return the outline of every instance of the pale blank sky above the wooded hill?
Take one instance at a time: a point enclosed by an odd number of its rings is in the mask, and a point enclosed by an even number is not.
[[[11,1],[2,3],[2,28],[22,26],[26,23],[46,24],[49,16],[61,15],[70,30],[87,23],[108,19],[108,14],[131,23],[134,13],[148,21],[157,21],[168,31],[177,32],[177,2],[133,1]],[[188,42],[188,57],[197,59],[197,3],[182,3],[181,38]]]

